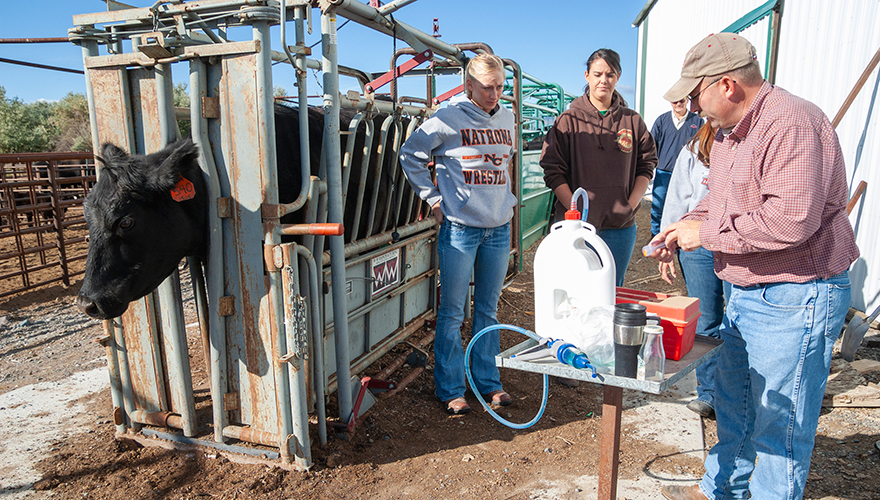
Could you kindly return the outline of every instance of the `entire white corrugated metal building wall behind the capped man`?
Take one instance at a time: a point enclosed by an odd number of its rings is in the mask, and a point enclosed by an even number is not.
[[[766,0],[705,2],[661,0],[654,5],[639,36],[636,109],[650,126],[669,110],[662,96],[679,76],[687,50],[709,33],[721,31]],[[767,18],[742,34],[767,63]],[[776,83],[816,103],[834,118],[862,71],[880,47],[880,0],[798,0],[784,4],[780,27]],[[846,159],[850,191],[868,183],[850,216],[862,257],[851,269],[853,307],[865,311],[880,305],[880,110],[875,69],[837,127]],[[641,96],[644,99],[641,99]],[[872,113],[873,107],[873,113]]]

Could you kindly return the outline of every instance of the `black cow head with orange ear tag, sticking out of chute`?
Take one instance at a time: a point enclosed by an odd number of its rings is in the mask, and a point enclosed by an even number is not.
[[[151,155],[105,144],[85,200],[89,254],[77,305],[109,319],[154,290],[187,255],[207,249],[207,193],[191,140]]]

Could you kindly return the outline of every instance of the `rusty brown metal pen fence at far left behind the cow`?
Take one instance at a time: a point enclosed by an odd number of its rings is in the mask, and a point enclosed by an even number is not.
[[[0,155],[0,297],[83,273],[94,182],[92,153]]]

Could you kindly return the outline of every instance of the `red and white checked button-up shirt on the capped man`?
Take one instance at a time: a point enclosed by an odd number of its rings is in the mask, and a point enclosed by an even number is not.
[[[710,156],[709,195],[684,219],[718,277],[740,286],[804,283],[846,271],[859,256],[846,215],[846,168],[818,106],[764,82]]]

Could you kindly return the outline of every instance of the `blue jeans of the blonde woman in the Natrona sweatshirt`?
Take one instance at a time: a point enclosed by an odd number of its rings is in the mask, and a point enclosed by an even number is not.
[[[473,334],[498,323],[498,299],[510,259],[510,223],[495,228],[469,227],[444,219],[437,243],[440,259],[440,308],[434,336],[434,386],[441,401],[464,396],[464,350],[461,322],[474,276]],[[498,331],[483,335],[471,354],[476,390],[501,389],[495,356],[501,352]]]

